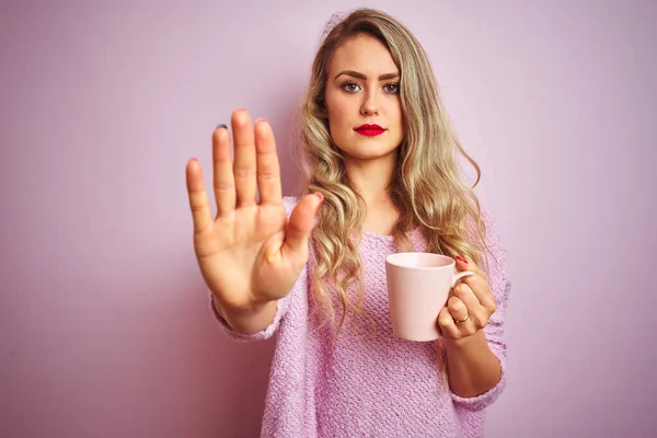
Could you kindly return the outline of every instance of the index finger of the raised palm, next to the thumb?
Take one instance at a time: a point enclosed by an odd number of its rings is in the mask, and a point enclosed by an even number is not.
[[[255,151],[260,201],[261,204],[279,205],[283,203],[280,165],[274,132],[267,120],[256,120],[255,123]]]

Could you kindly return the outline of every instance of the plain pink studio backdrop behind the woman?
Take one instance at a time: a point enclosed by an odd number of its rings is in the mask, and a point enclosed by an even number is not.
[[[93,3],[93,4],[92,4]],[[257,436],[274,342],[229,342],[185,163],[292,114],[331,14],[419,38],[498,218],[514,288],[491,437],[657,431],[657,7],[632,2],[2,2],[0,437]]]

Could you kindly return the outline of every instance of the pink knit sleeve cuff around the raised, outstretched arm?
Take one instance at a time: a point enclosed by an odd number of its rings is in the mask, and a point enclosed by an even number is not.
[[[297,199],[293,197],[285,197],[283,199],[283,204],[285,206],[288,218],[290,217],[290,214],[291,214],[292,209],[295,208],[296,201],[297,201]],[[289,309],[290,301],[292,300],[292,296],[296,295],[296,293],[293,293],[295,290],[306,287],[306,270],[307,270],[307,268],[304,267],[303,270],[301,272],[301,274],[299,275],[297,283],[295,284],[292,291],[290,291],[290,293],[288,293],[287,296],[276,300],[276,313],[274,315],[274,320],[266,328],[264,328],[257,333],[243,334],[243,333],[238,333],[238,332],[233,331],[230,327],[230,325],[228,325],[226,320],[223,318],[221,318],[221,315],[219,315],[219,312],[217,311],[217,308],[215,307],[215,300],[212,299],[211,291],[209,291],[209,295],[208,295],[210,311],[215,315],[215,319],[219,323],[219,326],[221,327],[222,332],[230,339],[235,341],[235,342],[266,341],[266,339],[270,338],[276,333],[278,327],[280,326],[280,323]]]

